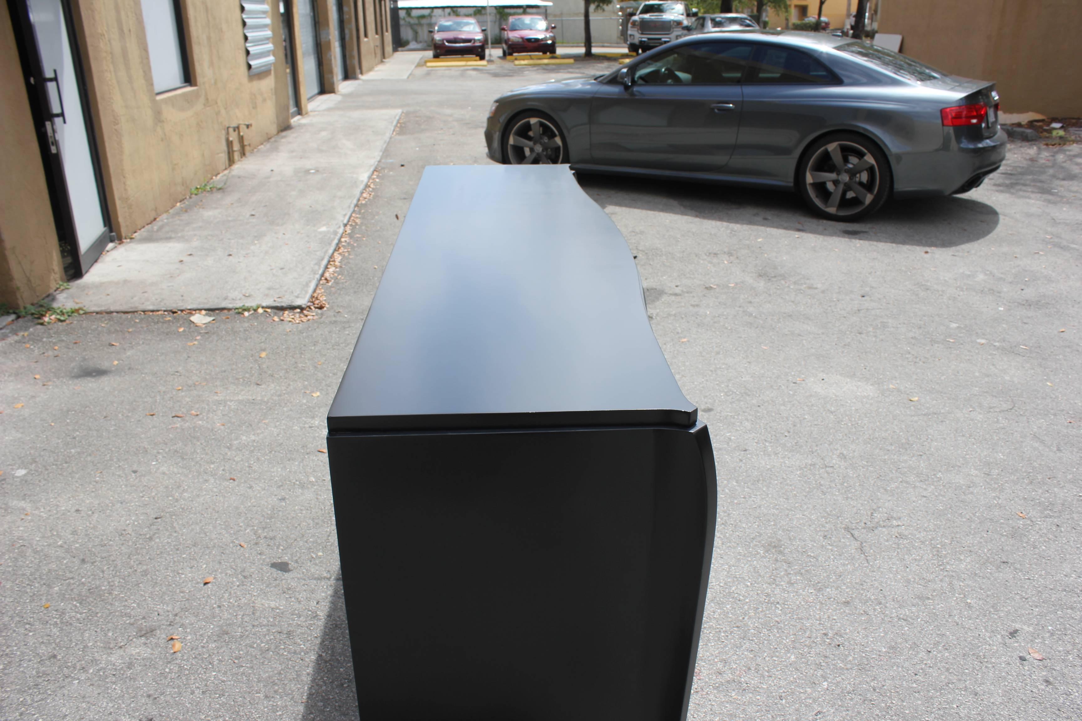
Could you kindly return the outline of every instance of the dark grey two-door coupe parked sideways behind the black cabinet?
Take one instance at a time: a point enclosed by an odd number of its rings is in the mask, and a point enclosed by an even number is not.
[[[817,32],[704,34],[596,78],[500,96],[501,163],[795,190],[855,221],[890,197],[966,192],[999,170],[995,83]]]

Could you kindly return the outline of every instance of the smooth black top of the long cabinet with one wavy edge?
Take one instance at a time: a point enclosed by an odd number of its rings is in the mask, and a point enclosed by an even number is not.
[[[425,169],[330,431],[696,419],[623,236],[567,165]]]

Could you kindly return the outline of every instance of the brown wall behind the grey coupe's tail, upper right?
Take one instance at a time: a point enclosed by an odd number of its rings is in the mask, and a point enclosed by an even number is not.
[[[880,32],[941,70],[994,80],[1006,112],[1082,116],[1082,0],[884,0]]]

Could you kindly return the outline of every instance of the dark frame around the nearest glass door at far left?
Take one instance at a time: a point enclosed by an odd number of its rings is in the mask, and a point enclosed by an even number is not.
[[[53,150],[56,147],[55,133],[49,132],[54,128],[53,120],[56,116],[53,114],[49,98],[45,75],[41,67],[41,53],[38,49],[38,39],[34,34],[34,24],[30,21],[27,0],[8,0],[8,12],[11,14],[12,30],[15,35],[15,45],[18,49],[23,81],[26,84],[30,116],[34,118],[35,135],[38,137],[38,149],[41,152],[41,165],[45,174],[45,185],[49,188],[49,201],[53,210],[53,221],[56,225],[62,256],[64,255],[64,245],[69,249],[68,258],[64,263],[64,272],[68,278],[80,278],[90,270],[90,267],[94,265],[94,262],[102,255],[109,241],[116,238],[116,235],[113,232],[113,218],[105,195],[105,177],[102,173],[102,158],[97,148],[97,128],[90,107],[82,49],[75,29],[71,3],[70,0],[57,0],[57,2],[61,5],[61,12],[64,13],[68,48],[71,50],[71,64],[78,84],[79,104],[82,107],[83,123],[87,126],[87,144],[90,147],[90,159],[94,168],[94,181],[97,185],[97,199],[102,206],[102,219],[105,222],[105,230],[85,252],[79,250],[79,237],[68,196],[67,179],[64,175],[64,164],[60,152]]]

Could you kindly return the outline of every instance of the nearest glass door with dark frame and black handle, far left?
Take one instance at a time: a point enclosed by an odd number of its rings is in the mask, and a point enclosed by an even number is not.
[[[109,224],[69,10],[63,0],[13,4],[61,250],[81,276],[108,243]]]

